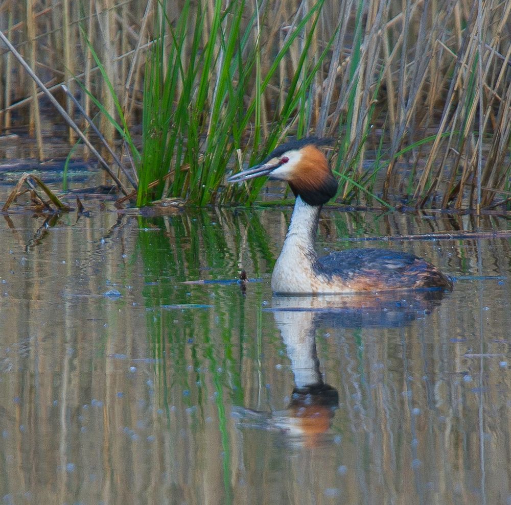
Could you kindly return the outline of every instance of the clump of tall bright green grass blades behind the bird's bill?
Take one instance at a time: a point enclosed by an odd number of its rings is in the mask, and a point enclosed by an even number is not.
[[[306,133],[312,82],[330,45],[308,62],[323,2],[295,17],[289,36],[282,47],[275,48],[264,76],[260,27],[269,22],[268,9],[256,9],[244,19],[244,1],[233,0],[225,8],[215,2],[210,19],[202,3],[192,12],[187,0],[174,22],[165,14],[157,17],[157,36],[146,66],[137,205],[162,196],[180,197],[197,205],[240,198],[253,201],[260,181],[253,183],[246,196],[241,196],[244,188],[231,187],[222,193],[219,189],[227,167],[264,156],[291,127]],[[165,13],[166,2],[161,7]],[[274,110],[263,137],[265,91],[298,37],[298,64],[289,86],[282,90],[285,100]],[[172,177],[166,182],[164,176],[169,172]],[[154,180],[160,180],[158,186],[148,188]]]

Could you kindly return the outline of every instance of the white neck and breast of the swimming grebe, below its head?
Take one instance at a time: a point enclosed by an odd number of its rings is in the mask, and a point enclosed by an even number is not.
[[[291,223],[271,276],[276,293],[314,293],[318,257],[314,250],[320,206],[296,197]]]

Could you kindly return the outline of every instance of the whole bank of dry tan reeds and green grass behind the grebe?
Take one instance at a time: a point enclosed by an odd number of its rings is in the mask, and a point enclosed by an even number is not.
[[[0,6],[0,30],[99,115],[133,159],[139,205],[252,202],[262,182],[226,188],[226,171],[315,134],[337,139],[339,202],[480,210],[511,201],[510,13],[496,0],[27,0]],[[48,110],[3,49],[0,76],[0,129],[28,127],[43,157]]]

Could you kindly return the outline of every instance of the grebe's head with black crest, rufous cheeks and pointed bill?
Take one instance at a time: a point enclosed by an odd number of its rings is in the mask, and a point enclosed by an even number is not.
[[[330,145],[332,139],[307,137],[291,140],[275,148],[259,165],[232,175],[227,182],[241,182],[255,177],[269,176],[286,181],[294,196],[309,205],[323,205],[337,192],[327,158],[319,150]]]

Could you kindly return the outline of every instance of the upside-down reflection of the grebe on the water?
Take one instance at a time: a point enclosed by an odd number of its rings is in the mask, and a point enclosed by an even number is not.
[[[281,431],[288,442],[317,446],[331,440],[339,395],[326,383],[316,350],[321,328],[397,328],[427,317],[440,304],[438,290],[381,295],[274,296],[272,307],[291,362],[294,388],[283,411],[261,412],[234,407],[239,427]]]

